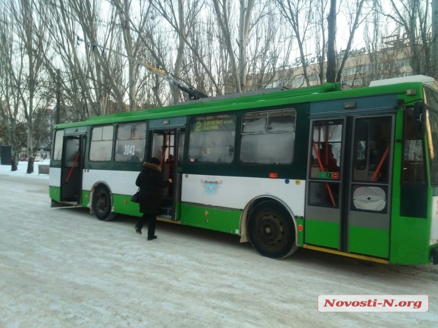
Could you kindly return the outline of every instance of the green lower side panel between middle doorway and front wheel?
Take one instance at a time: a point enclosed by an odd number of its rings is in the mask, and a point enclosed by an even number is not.
[[[181,224],[239,234],[240,210],[181,204]]]

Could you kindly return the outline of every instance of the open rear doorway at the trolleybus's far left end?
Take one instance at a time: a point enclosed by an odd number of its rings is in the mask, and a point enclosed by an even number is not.
[[[81,203],[85,140],[85,135],[64,136],[61,201]]]

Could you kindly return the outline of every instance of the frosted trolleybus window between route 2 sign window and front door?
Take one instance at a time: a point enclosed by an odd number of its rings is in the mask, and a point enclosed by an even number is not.
[[[240,161],[291,164],[295,140],[295,109],[251,112],[243,115]]]

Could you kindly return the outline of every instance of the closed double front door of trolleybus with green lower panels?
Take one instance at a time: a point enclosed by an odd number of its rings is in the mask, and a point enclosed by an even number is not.
[[[389,257],[394,116],[311,121],[305,244]]]

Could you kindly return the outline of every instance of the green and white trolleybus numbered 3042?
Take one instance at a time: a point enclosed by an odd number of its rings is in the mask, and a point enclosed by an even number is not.
[[[158,220],[298,247],[438,263],[438,84],[425,76],[204,98],[54,126],[52,206],[141,216],[141,163],[161,160]],[[173,162],[168,159],[173,156]]]

